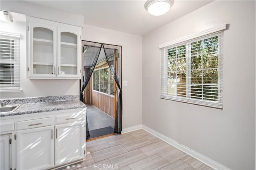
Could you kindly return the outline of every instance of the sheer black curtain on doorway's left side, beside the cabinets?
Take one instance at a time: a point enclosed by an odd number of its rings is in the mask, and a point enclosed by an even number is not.
[[[84,58],[84,82],[82,89],[80,90],[80,100],[84,102],[84,89],[86,88],[90,77],[92,76],[92,72],[95,68],[95,65],[98,61],[100,50],[102,44],[82,41],[82,52]],[[86,55],[85,55],[86,54]],[[88,129],[88,121],[86,115],[86,140],[90,138],[90,133]]]

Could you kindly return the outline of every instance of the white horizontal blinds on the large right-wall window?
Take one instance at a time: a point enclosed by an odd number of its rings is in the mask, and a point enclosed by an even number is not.
[[[223,31],[160,51],[161,98],[222,108]]]

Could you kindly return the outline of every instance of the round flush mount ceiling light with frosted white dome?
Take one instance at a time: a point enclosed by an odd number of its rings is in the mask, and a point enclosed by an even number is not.
[[[148,0],[144,8],[153,16],[161,16],[168,12],[173,4],[174,0]]]

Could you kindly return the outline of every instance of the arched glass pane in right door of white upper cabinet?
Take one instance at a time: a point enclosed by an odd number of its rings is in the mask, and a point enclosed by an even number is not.
[[[60,33],[60,74],[77,74],[77,36]]]

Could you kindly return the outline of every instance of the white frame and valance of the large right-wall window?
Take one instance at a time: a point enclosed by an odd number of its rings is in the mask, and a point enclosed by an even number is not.
[[[185,102],[185,103],[189,103],[189,104],[196,104],[196,105],[200,105],[200,106],[208,106],[208,107],[214,107],[214,108],[218,108],[218,109],[222,109],[223,108],[223,37],[224,37],[224,33],[223,30],[226,28],[226,24],[222,24],[218,27],[214,27],[212,29],[203,31],[201,33],[196,33],[193,35],[189,35],[174,41],[170,41],[168,43],[164,43],[162,45],[159,45],[159,49],[161,51],[161,84],[160,84],[160,98],[162,99],[167,99],[167,100],[174,100],[174,101],[178,101],[178,102]],[[190,73],[191,72],[191,67],[189,66],[191,56],[189,57],[188,55],[191,55],[190,53],[190,49],[191,49],[191,43],[198,41],[198,40],[202,40],[204,37],[210,38],[210,37],[214,37],[214,35],[218,35],[218,102],[214,102],[214,101],[210,101],[210,100],[203,100],[202,99],[195,99],[195,98],[189,98],[190,94],[190,89],[191,89],[191,82],[189,84],[189,82],[187,80],[189,80]],[[190,46],[189,43],[190,42]],[[186,96],[185,97],[181,97],[181,96],[172,96],[172,95],[168,95],[167,94],[167,90],[168,90],[168,49],[176,46],[178,47],[179,45],[186,45]],[[190,48],[190,49],[189,49]],[[189,52],[188,52],[189,51]],[[177,59],[177,58],[176,58]],[[221,66],[222,65],[222,66]],[[201,68],[203,70],[203,68]],[[203,72],[202,72],[203,73]],[[203,75],[202,75],[203,76]],[[204,83],[202,82],[202,85]],[[221,86],[220,86],[221,84]],[[190,86],[190,87],[189,87]],[[202,94],[203,94],[203,90],[202,90]]]

